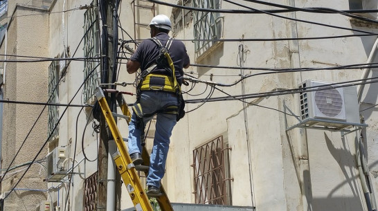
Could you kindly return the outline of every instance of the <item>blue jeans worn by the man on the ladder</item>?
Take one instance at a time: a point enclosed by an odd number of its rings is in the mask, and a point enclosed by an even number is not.
[[[143,113],[153,113],[170,105],[177,105],[177,96],[162,91],[142,91],[140,101]],[[143,130],[145,125],[152,119],[143,118]],[[176,114],[157,113],[154,146],[150,156],[150,171],[147,176],[147,185],[160,187],[161,178],[165,173],[165,160],[167,160],[170,147],[170,136],[176,125]],[[133,113],[129,123],[129,154],[142,152],[141,147],[142,128],[138,125],[138,118]]]

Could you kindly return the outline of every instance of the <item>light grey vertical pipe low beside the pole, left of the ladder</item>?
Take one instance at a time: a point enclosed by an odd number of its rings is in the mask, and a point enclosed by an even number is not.
[[[111,156],[116,152],[117,147],[114,140],[109,140],[109,150],[107,153],[107,211],[116,209],[116,165]]]

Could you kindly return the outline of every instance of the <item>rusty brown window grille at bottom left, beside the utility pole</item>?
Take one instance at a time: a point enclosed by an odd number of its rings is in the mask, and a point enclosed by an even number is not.
[[[84,180],[84,211],[97,210],[97,178],[98,172],[95,172]]]

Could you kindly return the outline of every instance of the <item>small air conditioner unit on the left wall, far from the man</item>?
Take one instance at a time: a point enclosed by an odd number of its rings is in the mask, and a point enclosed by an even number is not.
[[[47,178],[48,182],[60,181],[66,176],[66,169],[63,166],[63,161],[66,159],[66,149],[63,147],[56,147],[52,152],[46,155],[47,161]]]

